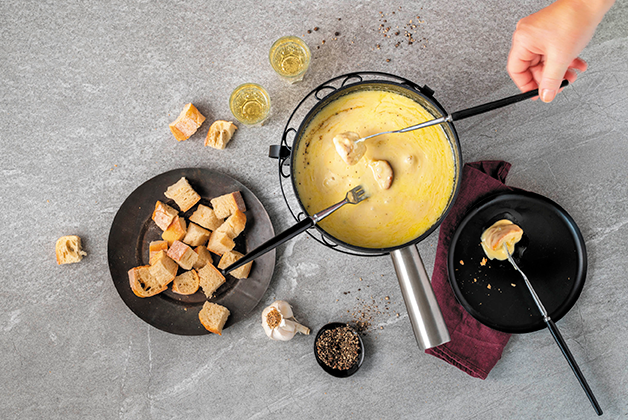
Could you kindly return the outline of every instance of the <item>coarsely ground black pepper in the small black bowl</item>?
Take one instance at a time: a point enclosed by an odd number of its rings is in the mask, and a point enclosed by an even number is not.
[[[358,333],[348,325],[324,331],[316,341],[316,353],[332,369],[351,369],[360,356]]]

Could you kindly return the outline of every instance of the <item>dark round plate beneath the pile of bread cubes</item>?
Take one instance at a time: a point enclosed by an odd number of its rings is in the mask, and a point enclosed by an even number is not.
[[[200,194],[200,203],[205,205],[209,205],[210,199],[223,194],[234,191],[242,193],[247,221],[246,229],[235,240],[237,251],[246,253],[275,234],[262,203],[247,187],[209,169],[175,169],[158,175],[140,185],[120,206],[111,225],[108,243],[109,270],[120,297],[137,316],[160,330],[180,335],[204,335],[209,334],[209,331],[198,319],[198,313],[206,301],[200,290],[193,295],[182,296],[168,287],[156,296],[139,298],[131,290],[127,274],[133,267],[148,264],[149,243],[161,239],[161,229],[151,219],[155,203],[160,200],[178,208],[174,201],[164,196],[164,192],[181,177],[187,178],[192,188]],[[195,209],[196,206],[184,213],[186,218]],[[212,256],[216,265],[219,257]],[[219,303],[231,312],[225,328],[243,319],[257,305],[268,288],[274,269],[273,250],[255,260],[248,279],[238,280],[227,275],[225,284],[211,299],[211,302]]]

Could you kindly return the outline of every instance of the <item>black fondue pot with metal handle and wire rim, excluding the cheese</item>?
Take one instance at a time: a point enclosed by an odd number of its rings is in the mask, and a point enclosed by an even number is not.
[[[281,190],[295,220],[301,220],[309,214],[305,210],[299,197],[295,181],[295,161],[298,158],[299,142],[302,141],[307,127],[313,118],[333,101],[360,91],[387,91],[403,95],[425,108],[434,118],[447,115],[443,107],[434,99],[432,91],[427,86],[417,84],[386,73],[360,72],[350,73],[331,79],[310,92],[294,110],[283,132],[280,145],[270,148],[270,157],[278,159],[279,179]],[[294,124],[299,123],[298,128]],[[336,251],[354,256],[381,256],[390,254],[401,287],[408,315],[412,324],[414,335],[419,346],[423,349],[438,346],[450,340],[449,332],[442,313],[434,296],[429,276],[416,244],[429,236],[441,223],[451,208],[458,193],[462,171],[462,157],[458,134],[451,122],[441,125],[448,140],[453,156],[453,189],[447,205],[438,219],[420,236],[410,241],[390,248],[367,248],[356,244],[343,242],[321,226],[316,225],[315,230],[307,233],[324,246]],[[287,188],[290,180],[291,188]],[[385,232],[383,232],[385,234]]]

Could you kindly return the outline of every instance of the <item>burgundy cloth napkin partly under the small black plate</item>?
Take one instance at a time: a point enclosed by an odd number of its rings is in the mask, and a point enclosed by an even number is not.
[[[480,379],[486,379],[500,359],[510,334],[481,324],[460,306],[447,279],[447,254],[458,224],[479,200],[500,191],[511,191],[511,188],[504,185],[510,166],[510,163],[503,161],[481,161],[464,165],[458,197],[440,227],[432,274],[432,287],[451,341],[425,352]]]

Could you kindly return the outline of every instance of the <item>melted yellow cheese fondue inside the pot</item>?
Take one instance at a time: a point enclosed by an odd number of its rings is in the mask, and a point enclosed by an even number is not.
[[[348,166],[333,137],[353,131],[368,136],[434,118],[412,99],[388,91],[365,90],[331,102],[308,125],[294,158],[299,198],[312,215],[362,185],[369,198],[345,205],[319,223],[327,233],[363,248],[390,248],[427,231],[445,211],[454,188],[454,156],[441,126],[366,140],[366,153]],[[381,189],[369,163],[386,160],[394,178]]]

